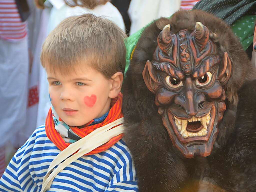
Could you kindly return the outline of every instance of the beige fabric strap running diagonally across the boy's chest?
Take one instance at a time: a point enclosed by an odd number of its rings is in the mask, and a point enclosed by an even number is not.
[[[45,192],[46,190],[48,190],[51,187],[52,181],[54,180],[56,175],[58,175],[72,162],[76,161],[84,154],[87,154],[92,150],[96,149],[97,147],[105,144],[111,138],[124,133],[123,125],[120,125],[122,123],[123,118],[118,119],[103,127],[100,127],[93,131],[92,133],[90,133],[89,135],[83,137],[79,141],[70,144],[65,150],[63,150],[59,155],[57,155],[56,158],[51,162],[47,174],[44,177],[41,192]],[[115,128],[112,129],[112,127]],[[74,154],[76,151],[78,152]],[[66,160],[63,163],[61,163],[64,159]],[[56,167],[57,165],[59,166],[52,172],[54,167]]]

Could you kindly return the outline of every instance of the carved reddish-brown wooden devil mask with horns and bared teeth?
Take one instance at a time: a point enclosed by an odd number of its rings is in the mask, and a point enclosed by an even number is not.
[[[187,158],[211,154],[226,110],[223,86],[230,78],[231,61],[227,52],[218,55],[212,39],[216,34],[200,22],[192,32],[175,34],[166,25],[143,71],[173,145]]]

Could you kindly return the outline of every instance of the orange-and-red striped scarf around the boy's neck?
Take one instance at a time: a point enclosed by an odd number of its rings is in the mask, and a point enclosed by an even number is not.
[[[84,128],[79,129],[78,127],[70,127],[74,133],[79,135],[81,138],[85,137],[86,135],[90,134],[97,128],[100,128],[104,125],[107,125],[109,123],[114,122],[115,120],[118,120],[123,117],[122,113],[122,103],[123,103],[123,94],[120,93],[117,98],[112,99],[111,101],[111,106],[112,108],[109,111],[108,116],[106,119],[99,124],[91,125],[89,126],[92,122],[90,121],[85,125]],[[114,128],[114,127],[113,127]],[[58,148],[59,150],[63,151],[66,149],[71,143],[66,143],[60,133],[55,129],[55,124],[54,120],[52,118],[52,111],[51,108],[48,112],[46,122],[45,122],[45,131],[46,135],[51,140]],[[109,142],[105,143],[104,145],[101,145],[100,147],[94,149],[90,153],[87,153],[85,155],[93,155],[97,153],[101,153],[103,151],[108,150],[110,147],[112,147],[114,144],[116,144],[119,140],[123,138],[124,134],[120,134],[116,137],[113,137]]]

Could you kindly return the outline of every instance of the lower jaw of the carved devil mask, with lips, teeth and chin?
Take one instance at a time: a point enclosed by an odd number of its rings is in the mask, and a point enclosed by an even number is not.
[[[163,124],[173,145],[186,158],[194,158],[195,154],[202,157],[209,156],[219,132],[216,123],[215,104],[209,103],[197,115],[188,116],[190,119],[184,118],[182,114],[171,107],[165,110],[163,114]],[[178,115],[181,117],[179,118]]]

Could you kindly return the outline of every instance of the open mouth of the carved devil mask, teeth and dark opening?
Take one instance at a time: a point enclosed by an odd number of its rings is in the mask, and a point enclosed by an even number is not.
[[[174,119],[177,129],[183,138],[204,137],[208,132],[207,126],[210,124],[211,115],[209,112],[201,118],[193,116],[191,119],[183,120],[174,116]]]

